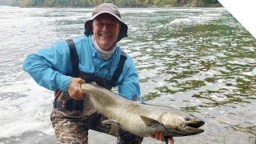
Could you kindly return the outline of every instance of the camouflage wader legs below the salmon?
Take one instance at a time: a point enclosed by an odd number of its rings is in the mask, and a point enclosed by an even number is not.
[[[50,115],[50,120],[58,143],[88,143],[89,129],[110,134],[110,125],[102,125],[102,121],[106,120],[102,114],[95,113],[83,117],[81,111],[55,108]],[[111,135],[118,138],[118,144],[139,144],[143,139],[122,129]]]

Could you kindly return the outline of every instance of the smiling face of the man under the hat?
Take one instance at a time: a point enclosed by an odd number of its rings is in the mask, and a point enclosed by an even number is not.
[[[102,50],[110,50],[118,39],[120,23],[111,14],[100,14],[93,21],[93,33]]]

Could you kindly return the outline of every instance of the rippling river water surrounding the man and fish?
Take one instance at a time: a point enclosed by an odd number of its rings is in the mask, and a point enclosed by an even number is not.
[[[53,93],[22,70],[26,55],[83,34],[92,9],[0,6],[0,143],[55,143]],[[142,97],[202,118],[175,143],[256,142],[256,41],[223,8],[121,9]],[[90,143],[115,138],[90,131]],[[145,138],[143,143],[161,143]]]

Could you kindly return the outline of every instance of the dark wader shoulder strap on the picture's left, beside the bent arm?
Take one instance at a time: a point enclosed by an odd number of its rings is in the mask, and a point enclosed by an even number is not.
[[[66,40],[67,44],[70,48],[70,61],[72,65],[72,76],[75,78],[79,77],[79,59],[78,59],[78,53],[74,45],[73,39]]]

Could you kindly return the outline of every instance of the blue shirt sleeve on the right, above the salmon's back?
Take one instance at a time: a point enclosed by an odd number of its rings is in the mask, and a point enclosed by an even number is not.
[[[134,62],[128,56],[119,78],[118,94],[130,100],[144,102],[141,97],[138,72]]]

